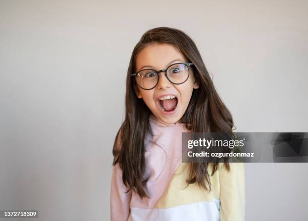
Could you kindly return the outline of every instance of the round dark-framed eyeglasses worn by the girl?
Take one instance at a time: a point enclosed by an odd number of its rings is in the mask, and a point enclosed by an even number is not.
[[[144,90],[151,90],[157,86],[160,80],[160,72],[165,72],[167,79],[175,85],[183,84],[189,77],[189,66],[193,63],[174,63],[166,69],[153,70],[142,69],[139,72],[132,73],[137,85]]]

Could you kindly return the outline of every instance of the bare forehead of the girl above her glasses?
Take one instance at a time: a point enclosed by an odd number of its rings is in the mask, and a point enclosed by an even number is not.
[[[151,44],[137,54],[136,69],[139,70],[143,66],[164,69],[170,61],[175,59],[186,61],[185,56],[171,44]]]

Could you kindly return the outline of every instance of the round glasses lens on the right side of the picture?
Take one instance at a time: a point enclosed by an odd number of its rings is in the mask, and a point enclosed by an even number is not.
[[[185,82],[189,76],[189,69],[185,64],[173,64],[167,70],[167,76],[174,84]]]

